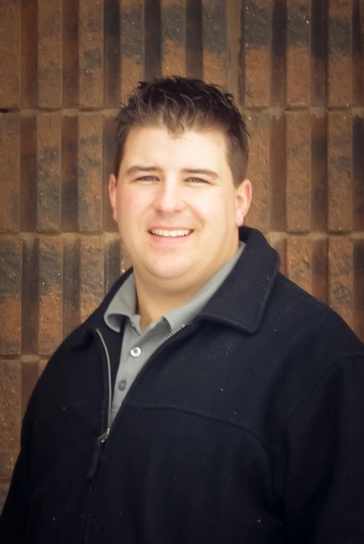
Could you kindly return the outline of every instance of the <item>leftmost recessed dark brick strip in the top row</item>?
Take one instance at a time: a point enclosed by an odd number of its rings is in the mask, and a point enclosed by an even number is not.
[[[38,104],[38,2],[22,0],[22,107]]]

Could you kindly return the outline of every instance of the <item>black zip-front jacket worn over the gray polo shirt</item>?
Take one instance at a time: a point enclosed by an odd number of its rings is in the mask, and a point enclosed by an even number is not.
[[[364,348],[258,231],[150,357],[111,428],[100,308],[31,397],[1,544],[363,544]],[[109,358],[109,361],[108,361]],[[109,365],[110,362],[110,365]]]

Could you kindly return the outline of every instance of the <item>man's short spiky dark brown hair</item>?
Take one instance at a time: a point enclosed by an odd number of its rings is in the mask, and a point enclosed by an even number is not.
[[[200,79],[164,77],[152,83],[140,81],[116,118],[114,174],[120,164],[132,127],[163,125],[173,134],[184,130],[216,128],[227,139],[228,162],[235,185],[246,177],[248,130],[230,93]]]

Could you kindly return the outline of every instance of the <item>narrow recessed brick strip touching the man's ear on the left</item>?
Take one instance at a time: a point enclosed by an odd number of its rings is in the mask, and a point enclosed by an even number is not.
[[[109,199],[109,178],[111,173],[115,173],[115,129],[114,118],[105,117],[102,137],[102,230],[104,232],[118,231]]]

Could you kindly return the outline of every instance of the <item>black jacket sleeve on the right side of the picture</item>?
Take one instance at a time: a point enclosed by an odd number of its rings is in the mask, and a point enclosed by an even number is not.
[[[364,357],[335,364],[296,407],[280,476],[290,543],[364,543]]]

